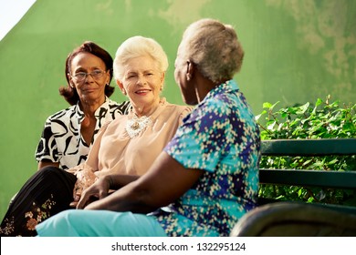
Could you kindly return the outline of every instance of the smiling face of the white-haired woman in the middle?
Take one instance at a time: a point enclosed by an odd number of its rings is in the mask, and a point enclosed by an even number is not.
[[[130,98],[135,113],[148,116],[160,102],[163,81],[164,73],[158,71],[156,61],[151,56],[139,56],[126,63],[117,84]]]

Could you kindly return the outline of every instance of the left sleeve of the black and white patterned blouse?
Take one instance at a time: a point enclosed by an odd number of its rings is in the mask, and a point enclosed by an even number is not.
[[[58,162],[58,146],[51,128],[51,119],[47,118],[45,128],[37,145],[35,158],[39,161]]]

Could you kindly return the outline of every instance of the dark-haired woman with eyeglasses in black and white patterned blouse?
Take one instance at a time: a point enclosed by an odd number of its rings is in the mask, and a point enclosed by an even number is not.
[[[71,107],[47,118],[37,146],[38,169],[78,166],[87,159],[99,128],[127,112],[129,101],[118,104],[109,98],[114,91],[112,62],[105,49],[90,41],[68,55],[68,86],[60,87],[59,94]]]

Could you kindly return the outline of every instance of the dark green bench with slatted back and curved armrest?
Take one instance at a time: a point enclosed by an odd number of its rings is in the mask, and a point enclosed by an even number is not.
[[[351,160],[356,160],[356,138],[265,140],[261,151],[263,157],[351,156],[355,157]],[[356,190],[356,168],[351,171],[261,168],[259,181]],[[260,205],[238,221],[232,236],[356,236],[356,206],[259,199]]]

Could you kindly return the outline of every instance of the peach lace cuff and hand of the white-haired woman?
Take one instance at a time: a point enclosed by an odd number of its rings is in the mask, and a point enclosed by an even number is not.
[[[71,207],[76,207],[81,197],[83,190],[88,189],[98,178],[93,171],[89,169],[83,169],[76,174],[77,182],[73,189],[73,202],[70,203]]]

